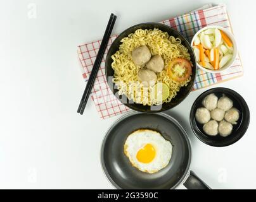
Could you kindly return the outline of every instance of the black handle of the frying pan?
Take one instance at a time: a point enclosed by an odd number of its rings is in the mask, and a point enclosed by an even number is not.
[[[190,174],[183,184],[187,189],[211,189],[192,170],[190,170]]]

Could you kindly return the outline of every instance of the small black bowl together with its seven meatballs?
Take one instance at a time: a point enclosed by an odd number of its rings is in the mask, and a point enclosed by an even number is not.
[[[250,111],[243,97],[229,88],[212,88],[196,98],[190,111],[196,137],[210,146],[229,146],[245,134]]]

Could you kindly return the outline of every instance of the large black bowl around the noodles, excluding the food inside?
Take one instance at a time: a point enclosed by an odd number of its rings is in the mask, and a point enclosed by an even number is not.
[[[114,71],[112,69],[112,62],[113,59],[111,58],[111,56],[113,54],[115,54],[115,52],[117,52],[117,50],[119,49],[119,45],[122,44],[120,42],[120,40],[122,40],[124,37],[127,37],[130,33],[134,33],[136,30],[138,29],[153,29],[153,28],[158,28],[159,30],[162,30],[163,32],[167,32],[169,33],[169,35],[172,35],[174,37],[179,37],[179,39],[181,39],[182,45],[184,45],[187,49],[188,52],[191,56],[191,62],[193,64],[192,68],[192,75],[191,75],[191,81],[189,81],[187,86],[183,86],[181,88],[181,90],[177,93],[175,98],[172,98],[172,100],[169,103],[164,103],[162,104],[162,106],[157,106],[157,107],[150,107],[148,105],[142,105],[142,104],[136,104],[131,102],[131,100],[129,101],[127,97],[125,97],[125,95],[118,95],[118,89],[114,88],[114,84],[112,81],[113,78],[113,74]],[[112,90],[112,92],[114,93],[114,95],[118,98],[118,100],[120,100],[124,105],[126,105],[127,107],[140,111],[140,112],[161,112],[163,110],[168,110],[171,109],[173,107],[175,107],[176,105],[180,104],[184,98],[186,98],[189,94],[189,92],[191,92],[193,85],[194,85],[194,81],[195,81],[195,76],[196,76],[196,60],[195,60],[195,55],[193,52],[193,49],[191,47],[191,45],[189,44],[188,40],[186,40],[181,33],[179,33],[177,30],[174,30],[173,28],[167,26],[167,25],[163,25],[160,23],[141,23],[139,25],[134,25],[130,28],[127,28],[127,30],[124,30],[124,32],[120,33],[120,35],[118,35],[117,39],[115,39],[112,43],[112,45],[110,46],[110,49],[108,50],[108,54],[106,56],[106,61],[105,61],[105,74],[106,74],[106,80],[108,81],[108,85],[110,86],[110,89]],[[109,79],[110,78],[110,79]],[[130,103],[129,103],[130,102]]]

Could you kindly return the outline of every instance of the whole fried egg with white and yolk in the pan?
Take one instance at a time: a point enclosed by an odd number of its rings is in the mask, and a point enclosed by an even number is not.
[[[124,153],[134,167],[152,174],[168,165],[172,144],[157,131],[139,129],[129,134]]]

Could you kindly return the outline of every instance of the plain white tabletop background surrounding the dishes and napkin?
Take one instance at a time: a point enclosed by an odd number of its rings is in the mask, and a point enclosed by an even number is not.
[[[212,1],[214,2],[214,1]],[[240,93],[251,112],[250,127],[234,145],[214,148],[189,126],[192,92],[168,113],[188,131],[191,169],[214,189],[256,188],[255,1],[226,3],[245,74],[216,86]],[[30,3],[37,16],[28,17]],[[101,141],[120,116],[101,120],[90,99],[76,113],[85,83],[77,45],[101,39],[110,13],[113,33],[145,21],[181,15],[209,1],[0,1],[0,188],[113,188],[99,161]],[[226,173],[226,182],[221,174]]]

